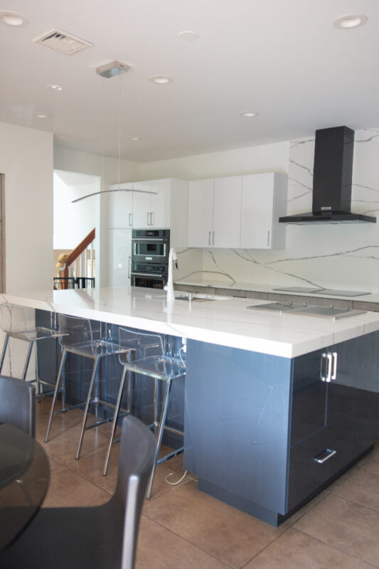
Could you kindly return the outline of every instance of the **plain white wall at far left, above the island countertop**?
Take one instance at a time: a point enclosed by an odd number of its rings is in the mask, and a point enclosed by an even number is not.
[[[0,122],[6,292],[51,289],[53,134]]]

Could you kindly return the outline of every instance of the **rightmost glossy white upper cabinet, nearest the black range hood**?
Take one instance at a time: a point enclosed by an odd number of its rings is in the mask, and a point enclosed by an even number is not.
[[[287,208],[287,175],[242,176],[242,249],[284,249],[286,228],[279,216]]]

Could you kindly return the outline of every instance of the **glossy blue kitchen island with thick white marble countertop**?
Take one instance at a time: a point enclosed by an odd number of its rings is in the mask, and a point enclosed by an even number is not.
[[[199,489],[274,526],[379,438],[378,313],[333,320],[185,295],[168,304],[133,287],[3,301],[101,321],[107,337],[129,326],[186,346],[184,466]]]

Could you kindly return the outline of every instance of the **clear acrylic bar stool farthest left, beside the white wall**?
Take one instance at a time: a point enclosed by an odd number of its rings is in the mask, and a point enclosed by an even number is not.
[[[9,339],[14,338],[28,342],[28,351],[26,353],[25,363],[23,365],[23,372],[20,379],[25,380],[28,373],[28,366],[31,361],[31,354],[33,346],[36,342],[47,339],[55,339],[60,336],[60,332],[55,328],[45,328],[43,326],[31,325],[31,309],[18,307],[15,304],[0,304],[1,314],[1,330],[5,332],[5,339],[3,349],[0,356],[0,374],[4,366],[6,356],[6,349],[9,347]],[[54,314],[55,317],[55,314]],[[55,388],[55,384],[40,378],[37,358],[37,377],[31,380],[31,383],[36,384],[36,395],[42,397],[43,395],[50,395]],[[50,390],[43,392],[41,385],[48,385]]]

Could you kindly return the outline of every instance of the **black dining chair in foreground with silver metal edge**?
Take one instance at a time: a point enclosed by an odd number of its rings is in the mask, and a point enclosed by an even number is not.
[[[83,508],[41,508],[0,553],[0,568],[133,569],[154,452],[149,428],[135,417],[124,418],[117,486],[110,501]]]

